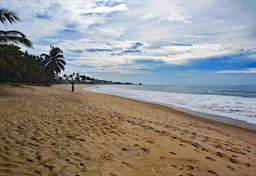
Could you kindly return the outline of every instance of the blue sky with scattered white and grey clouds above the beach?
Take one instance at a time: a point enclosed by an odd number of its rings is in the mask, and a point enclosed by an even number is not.
[[[65,72],[144,84],[256,84],[255,0],[0,0]],[[2,27],[2,26],[1,26]]]

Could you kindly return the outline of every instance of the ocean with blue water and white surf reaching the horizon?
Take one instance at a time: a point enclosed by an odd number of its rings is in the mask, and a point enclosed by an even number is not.
[[[256,125],[255,85],[97,85],[89,90]]]

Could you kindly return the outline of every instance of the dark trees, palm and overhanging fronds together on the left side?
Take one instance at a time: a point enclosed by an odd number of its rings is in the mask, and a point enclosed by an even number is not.
[[[0,22],[16,23],[19,17],[8,9],[0,9]],[[50,85],[66,64],[60,48],[51,46],[41,56],[21,51],[17,44],[33,48],[32,42],[20,31],[0,30],[0,82],[40,83]]]

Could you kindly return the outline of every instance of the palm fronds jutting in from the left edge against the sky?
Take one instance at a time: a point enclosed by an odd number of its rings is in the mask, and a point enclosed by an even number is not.
[[[16,23],[20,21],[19,17],[13,12],[8,9],[0,8],[0,22],[4,23]],[[26,47],[33,48],[32,42],[27,39],[27,37],[19,31],[11,30],[11,31],[3,31],[0,30],[0,44],[7,44],[7,43],[20,43]]]

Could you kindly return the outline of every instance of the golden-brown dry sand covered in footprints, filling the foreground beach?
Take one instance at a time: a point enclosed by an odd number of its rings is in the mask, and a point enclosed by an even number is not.
[[[0,87],[1,176],[256,173],[256,132],[69,89]]]

